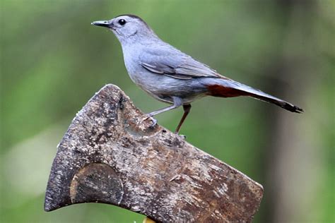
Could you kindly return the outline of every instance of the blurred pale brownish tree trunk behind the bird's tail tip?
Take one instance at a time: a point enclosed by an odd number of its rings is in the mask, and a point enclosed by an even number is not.
[[[317,83],[317,68],[311,46],[313,40],[313,19],[317,14],[315,1],[279,1],[283,15],[283,52],[278,52],[276,64],[272,64],[266,73],[272,76],[271,91],[278,97],[297,104],[307,110],[307,97],[312,85]],[[270,92],[271,92],[270,91]],[[313,191],[315,182],[307,171],[317,162],[313,150],[305,135],[305,114],[289,114],[273,109],[268,116],[269,145],[266,154],[267,203],[264,222],[305,222],[305,211],[310,209],[306,198]],[[308,182],[308,183],[307,183]]]

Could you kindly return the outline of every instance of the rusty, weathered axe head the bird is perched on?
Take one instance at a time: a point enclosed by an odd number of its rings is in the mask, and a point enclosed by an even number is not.
[[[117,86],[102,88],[58,146],[45,210],[98,202],[156,222],[252,221],[259,183],[152,124]]]

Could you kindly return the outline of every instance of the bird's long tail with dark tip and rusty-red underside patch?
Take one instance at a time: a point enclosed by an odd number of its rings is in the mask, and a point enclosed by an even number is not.
[[[286,109],[288,111],[296,112],[296,113],[302,113],[303,110],[300,109],[300,107],[297,107],[293,104],[290,104],[284,100],[281,100],[277,97],[274,97],[272,95],[268,95],[261,90],[257,90],[254,88],[251,88],[247,85],[244,85],[242,83],[238,83],[235,80],[230,79],[213,79],[211,80],[205,80],[205,85],[208,90],[208,95],[214,96],[214,97],[238,97],[238,96],[249,96],[254,97],[258,100],[269,102],[272,104],[276,104],[279,107],[282,107],[283,109]]]

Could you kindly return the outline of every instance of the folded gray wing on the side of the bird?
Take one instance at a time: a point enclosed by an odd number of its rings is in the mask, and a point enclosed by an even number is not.
[[[139,59],[141,66],[148,71],[172,78],[223,77],[216,73],[215,70],[170,45],[143,49]]]

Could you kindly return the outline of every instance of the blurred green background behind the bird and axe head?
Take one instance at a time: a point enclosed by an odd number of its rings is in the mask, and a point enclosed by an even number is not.
[[[164,107],[131,83],[112,32],[141,16],[166,42],[224,76],[305,109],[250,98],[195,102],[181,133],[264,186],[254,222],[334,222],[334,1],[1,0],[0,222],[141,222],[102,204],[44,212],[56,146],[106,83],[144,112]],[[174,131],[182,109],[157,116]]]

